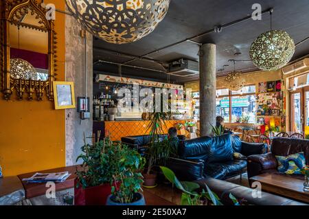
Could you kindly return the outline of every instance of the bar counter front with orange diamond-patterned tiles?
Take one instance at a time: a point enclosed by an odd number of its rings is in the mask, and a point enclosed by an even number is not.
[[[163,127],[164,133],[168,133],[170,127],[174,127],[176,123],[185,123],[187,120],[165,120],[166,127]],[[93,133],[101,130],[101,138],[111,136],[111,140],[120,141],[126,136],[141,136],[149,134],[147,127],[150,120],[128,120],[128,121],[93,121]],[[103,136],[104,133],[104,136]]]

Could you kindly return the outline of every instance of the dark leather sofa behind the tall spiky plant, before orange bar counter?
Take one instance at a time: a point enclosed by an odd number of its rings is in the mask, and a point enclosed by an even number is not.
[[[150,135],[144,135],[144,136],[127,136],[122,137],[122,144],[126,144],[128,146],[131,146],[134,149],[137,149],[137,151],[144,155],[147,145],[149,144],[151,140]],[[168,134],[163,134],[159,136],[160,138],[166,138],[168,137]],[[185,136],[178,136],[179,140],[183,141],[185,140]]]

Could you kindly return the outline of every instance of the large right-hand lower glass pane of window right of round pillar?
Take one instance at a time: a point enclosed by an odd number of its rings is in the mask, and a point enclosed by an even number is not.
[[[232,123],[255,123],[255,95],[232,96]]]

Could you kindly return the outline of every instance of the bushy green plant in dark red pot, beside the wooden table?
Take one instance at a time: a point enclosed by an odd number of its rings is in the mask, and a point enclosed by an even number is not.
[[[122,156],[122,145],[109,138],[90,145],[84,137],[82,152],[76,159],[82,159],[82,165],[76,169],[75,205],[105,205],[112,183],[119,185],[113,175],[119,172],[117,161]]]

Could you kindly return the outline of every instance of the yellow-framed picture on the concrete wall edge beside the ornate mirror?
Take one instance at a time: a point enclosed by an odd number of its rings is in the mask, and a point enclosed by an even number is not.
[[[75,108],[74,83],[67,81],[53,81],[55,109]]]

